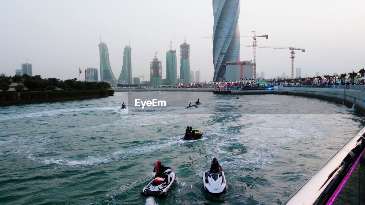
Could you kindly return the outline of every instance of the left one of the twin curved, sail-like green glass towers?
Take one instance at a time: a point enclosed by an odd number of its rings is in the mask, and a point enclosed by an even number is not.
[[[110,67],[108,47],[104,42],[99,44],[100,53],[100,80],[110,81],[116,80]]]

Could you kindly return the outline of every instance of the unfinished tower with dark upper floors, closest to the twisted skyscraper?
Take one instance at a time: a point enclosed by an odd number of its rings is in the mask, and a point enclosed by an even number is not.
[[[190,45],[184,43],[180,45],[180,78],[184,79],[185,84],[190,84]]]

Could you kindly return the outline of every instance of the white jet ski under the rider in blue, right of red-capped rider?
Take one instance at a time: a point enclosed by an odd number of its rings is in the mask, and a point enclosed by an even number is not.
[[[227,181],[223,171],[203,172],[203,187],[205,192],[220,196],[227,191]]]

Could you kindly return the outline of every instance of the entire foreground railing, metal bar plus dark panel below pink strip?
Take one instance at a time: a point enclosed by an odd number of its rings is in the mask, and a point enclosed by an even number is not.
[[[365,204],[365,127],[345,144],[286,205]]]

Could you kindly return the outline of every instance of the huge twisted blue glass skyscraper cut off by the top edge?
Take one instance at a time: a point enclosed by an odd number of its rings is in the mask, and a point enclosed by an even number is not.
[[[213,81],[226,80],[226,65],[224,63],[239,61],[238,17],[240,0],[213,0],[214,27],[213,36]]]

